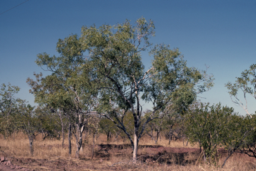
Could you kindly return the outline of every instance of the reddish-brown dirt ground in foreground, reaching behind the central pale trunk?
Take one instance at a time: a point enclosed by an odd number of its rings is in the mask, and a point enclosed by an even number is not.
[[[54,147],[53,147],[54,148]],[[90,149],[91,146],[87,146]],[[225,151],[220,151],[225,153]],[[95,146],[91,156],[81,158],[14,158],[0,156],[0,170],[151,170],[154,167],[177,164],[185,166],[195,163],[199,157],[199,148],[170,148],[164,146],[139,146],[138,163],[129,160],[132,156],[131,146],[101,144]]]

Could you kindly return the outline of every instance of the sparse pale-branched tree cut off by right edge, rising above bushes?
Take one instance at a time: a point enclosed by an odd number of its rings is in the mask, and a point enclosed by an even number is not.
[[[236,79],[235,83],[229,82],[225,86],[229,89],[231,100],[241,106],[252,118],[247,107],[247,97],[249,95],[256,99],[256,64],[251,65],[248,70],[246,69],[241,73],[241,77],[236,77]],[[242,92],[245,103],[239,98],[239,91]]]

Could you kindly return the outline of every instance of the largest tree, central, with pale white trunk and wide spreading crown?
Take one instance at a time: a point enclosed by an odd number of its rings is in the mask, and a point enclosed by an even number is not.
[[[197,93],[213,86],[212,77],[205,71],[187,67],[179,49],[171,50],[164,44],[153,46],[149,41],[153,35],[153,21],[140,18],[135,25],[125,21],[99,28],[85,26],[80,37],[83,53],[90,63],[92,88],[99,90],[101,105],[97,110],[125,132],[133,146],[134,163],[147,123],[174,108],[183,112]],[[141,60],[146,51],[153,58],[149,69],[145,69]],[[143,117],[143,102],[153,106],[147,118]],[[127,132],[123,123],[128,111],[133,114],[133,134]]]

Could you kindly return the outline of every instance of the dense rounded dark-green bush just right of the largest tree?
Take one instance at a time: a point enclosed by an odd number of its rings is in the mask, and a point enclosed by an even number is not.
[[[233,114],[233,108],[221,107],[220,103],[213,106],[201,103],[201,106],[194,106],[185,115],[185,134],[189,142],[199,143],[203,147],[208,162],[213,162],[223,140],[229,139],[232,124],[236,122],[233,118],[239,118]]]

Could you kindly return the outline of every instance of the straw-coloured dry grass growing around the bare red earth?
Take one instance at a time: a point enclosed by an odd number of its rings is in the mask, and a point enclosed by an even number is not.
[[[141,162],[137,164],[137,166],[132,166],[131,162],[129,162],[129,159],[131,158],[131,149],[127,148],[126,150],[117,150],[110,149],[108,152],[106,152],[106,157],[103,158],[103,162],[99,162],[101,158],[97,158],[97,152],[95,152],[95,159],[91,160],[92,155],[92,137],[87,137],[87,140],[85,141],[85,146],[83,146],[83,150],[81,150],[81,160],[75,159],[75,138],[72,140],[72,156],[69,157],[68,154],[68,147],[67,147],[67,139],[65,139],[65,146],[61,146],[61,140],[42,140],[41,136],[37,136],[35,142],[34,142],[34,155],[33,157],[30,156],[29,153],[29,140],[27,139],[27,136],[22,134],[21,132],[15,136],[15,140],[13,140],[13,136],[10,138],[7,138],[6,140],[3,139],[3,137],[0,137],[0,155],[7,155],[7,156],[13,156],[15,158],[34,158],[34,159],[47,159],[47,160],[59,160],[59,158],[63,158],[63,160],[72,161],[73,163],[77,165],[79,164],[91,164],[91,166],[97,165],[99,170],[103,169],[106,170],[112,170],[115,167],[120,167],[119,170],[255,170],[256,168],[256,160],[255,158],[250,158],[249,156],[245,154],[233,154],[229,160],[227,160],[227,164],[223,169],[220,168],[220,166],[223,164],[223,161],[225,160],[225,156],[221,156],[219,161],[217,161],[217,164],[215,165],[209,165],[209,164],[203,164],[203,162],[199,162],[197,165],[195,165],[195,161],[197,160],[198,156],[193,153],[185,154],[184,160],[190,161],[187,162],[187,164],[177,164],[177,158],[175,156],[169,157],[169,162],[171,164],[167,164],[167,162]],[[125,145],[129,144],[129,140],[123,142],[123,140],[113,141],[110,142],[106,141],[106,136],[103,134],[100,134],[95,141],[95,144],[115,144],[115,145]],[[165,138],[162,138],[159,140],[157,144],[154,143],[151,138],[145,136],[141,138],[139,145],[141,145],[141,148],[139,148],[138,154],[139,156],[143,156],[145,154],[149,154],[146,145],[149,146],[165,146],[165,147],[175,147],[175,148],[183,148],[183,142],[182,141],[172,141],[169,144],[168,140],[165,140]],[[186,148],[197,148],[197,146],[191,146],[191,144],[188,144],[188,146],[185,146]],[[95,151],[99,149],[95,148]],[[175,154],[170,154],[175,155]],[[112,165],[117,162],[122,162],[122,164],[116,164],[113,167],[108,167],[107,165]],[[106,168],[107,167],[107,168]],[[67,162],[67,170],[72,170],[72,166],[69,166],[69,162]],[[116,168],[115,168],[116,169]],[[44,170],[43,166],[38,170]],[[46,170],[46,169],[45,169]]]

